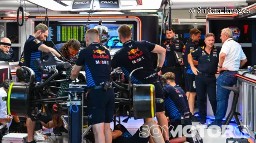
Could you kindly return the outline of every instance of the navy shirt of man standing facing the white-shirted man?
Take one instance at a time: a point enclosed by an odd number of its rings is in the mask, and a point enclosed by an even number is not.
[[[215,75],[218,70],[219,53],[220,47],[214,46],[209,55],[203,46],[191,52],[191,56],[198,57],[198,71]]]

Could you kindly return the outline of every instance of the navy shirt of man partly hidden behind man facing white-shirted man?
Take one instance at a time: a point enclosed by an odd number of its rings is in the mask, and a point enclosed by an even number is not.
[[[183,47],[183,62],[184,62],[184,66],[188,67],[188,71],[186,73],[194,74],[188,62],[188,55],[189,53],[196,50],[196,48],[197,47],[195,46],[195,43],[192,42],[191,38],[189,38],[189,40],[186,42],[185,46]],[[194,60],[197,61],[197,58],[194,57]]]

